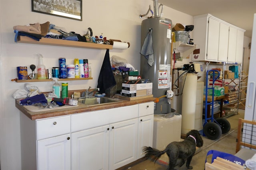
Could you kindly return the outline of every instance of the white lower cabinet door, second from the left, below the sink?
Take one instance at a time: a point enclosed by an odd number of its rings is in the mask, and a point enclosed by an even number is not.
[[[72,170],[108,170],[109,125],[71,134]]]

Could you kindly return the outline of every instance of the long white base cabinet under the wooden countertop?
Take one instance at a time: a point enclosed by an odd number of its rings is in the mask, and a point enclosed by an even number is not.
[[[30,120],[21,113],[22,170],[114,170],[152,146],[154,102]]]

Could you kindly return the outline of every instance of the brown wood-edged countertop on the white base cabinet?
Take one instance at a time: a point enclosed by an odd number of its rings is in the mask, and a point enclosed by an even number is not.
[[[39,111],[39,112],[32,112],[26,109],[24,106],[21,106],[19,104],[19,100],[15,100],[15,106],[26,116],[28,116],[31,120],[36,119],[42,119],[42,118],[48,118],[48,117],[56,117],[56,116],[62,116],[62,115],[70,115],[75,113],[83,113],[87,111],[96,111],[96,110],[104,110],[104,109],[112,109],[116,107],[123,107],[123,106],[131,106],[135,104],[140,103],[146,103],[146,102],[153,102],[155,98],[144,98],[139,100],[122,100],[115,98],[116,100],[119,100],[120,102],[110,103],[110,104],[103,104],[103,105],[97,105],[97,106],[86,106],[84,104],[76,106],[76,107],[69,107],[62,109],[53,109],[50,111]],[[36,106],[35,106],[36,107]]]

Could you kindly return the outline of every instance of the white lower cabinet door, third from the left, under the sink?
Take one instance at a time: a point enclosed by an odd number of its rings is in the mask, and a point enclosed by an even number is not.
[[[110,125],[109,170],[137,160],[138,118]]]

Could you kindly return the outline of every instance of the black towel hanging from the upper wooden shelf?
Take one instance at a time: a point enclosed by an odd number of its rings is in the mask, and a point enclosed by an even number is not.
[[[106,90],[108,90],[109,88],[112,88],[115,85],[116,85],[116,80],[114,78],[111,64],[110,64],[109,49],[107,49],[101,69],[100,69],[97,88],[100,88],[99,93],[103,94],[106,92]]]

